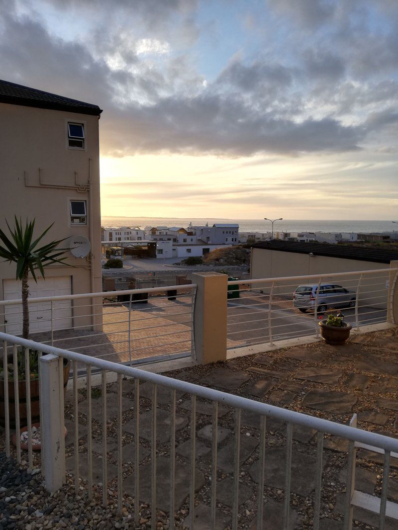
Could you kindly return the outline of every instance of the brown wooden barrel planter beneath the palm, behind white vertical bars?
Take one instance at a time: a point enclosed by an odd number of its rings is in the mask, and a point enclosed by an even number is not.
[[[68,384],[69,370],[71,363],[68,361],[64,366],[64,393]],[[39,379],[30,381],[30,413],[32,423],[40,421],[40,402],[39,402]],[[26,406],[26,382],[18,382],[19,395],[19,418],[20,425],[27,425],[27,406]],[[10,414],[10,428],[15,429],[15,393],[14,381],[8,381],[8,411]],[[4,408],[4,381],[0,381],[0,426],[5,427],[5,408]]]

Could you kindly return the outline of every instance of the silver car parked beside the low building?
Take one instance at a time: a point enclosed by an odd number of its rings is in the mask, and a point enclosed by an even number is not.
[[[317,290],[318,284],[299,285],[293,293],[293,307],[297,307],[302,313],[307,309],[315,311],[315,302],[317,302],[317,312],[324,313],[331,307],[355,306],[356,293],[341,285],[321,284],[318,299],[316,299]]]

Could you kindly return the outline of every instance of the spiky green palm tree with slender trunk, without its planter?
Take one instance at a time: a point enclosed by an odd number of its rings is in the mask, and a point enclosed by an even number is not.
[[[40,275],[44,278],[44,269],[51,263],[64,263],[65,258],[60,258],[67,250],[70,249],[57,249],[57,246],[66,238],[58,241],[51,241],[44,246],[38,246],[42,238],[47,234],[51,224],[46,230],[33,239],[34,221],[28,223],[26,220],[25,226],[22,226],[21,219],[18,220],[15,216],[15,227],[11,229],[10,225],[6,220],[8,230],[10,231],[11,238],[8,238],[5,233],[0,229],[0,258],[4,258],[5,261],[16,263],[16,280],[22,281],[22,337],[29,339],[29,284],[28,276],[31,273],[34,281],[37,283],[35,271],[39,270]]]

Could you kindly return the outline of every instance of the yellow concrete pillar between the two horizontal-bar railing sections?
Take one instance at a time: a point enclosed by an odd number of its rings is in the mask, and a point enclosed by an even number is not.
[[[227,281],[218,272],[194,272],[196,360],[200,364],[227,359]]]

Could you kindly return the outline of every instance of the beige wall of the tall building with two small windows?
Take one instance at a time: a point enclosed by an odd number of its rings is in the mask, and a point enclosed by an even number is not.
[[[50,266],[46,276],[70,276],[73,294],[101,291],[98,117],[5,103],[0,103],[0,116],[2,218],[10,225],[14,215],[23,221],[34,218],[37,234],[54,223],[43,243],[77,235],[88,237],[92,262],[90,255],[81,259],[68,253],[67,262],[73,268]],[[84,124],[84,150],[68,148],[68,121]],[[86,225],[71,225],[70,200],[86,201]],[[7,231],[4,221],[1,226]],[[1,299],[4,298],[3,280],[13,278],[15,265],[0,263]],[[91,308],[79,308],[84,304],[87,301],[76,301],[74,316],[92,312]],[[100,304],[96,312],[101,315]],[[97,323],[100,321],[101,316]],[[91,317],[80,318],[77,325],[90,323]]]

